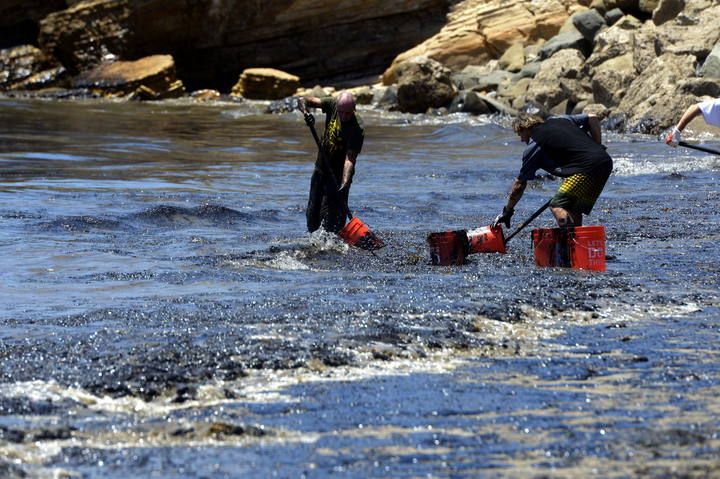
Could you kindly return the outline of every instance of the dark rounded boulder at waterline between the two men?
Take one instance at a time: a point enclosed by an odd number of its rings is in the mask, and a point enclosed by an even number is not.
[[[457,94],[450,70],[426,57],[401,63],[397,75],[398,105],[403,112],[425,113],[428,108],[445,107]]]

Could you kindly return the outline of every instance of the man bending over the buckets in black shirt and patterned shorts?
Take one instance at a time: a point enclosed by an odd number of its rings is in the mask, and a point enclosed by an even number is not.
[[[612,171],[612,158],[601,144],[598,119],[573,115],[545,121],[538,116],[521,116],[513,121],[513,130],[528,147],[507,205],[493,226],[504,223],[510,227],[515,205],[539,168],[565,178],[550,201],[558,226],[582,226],[582,215],[590,214]]]

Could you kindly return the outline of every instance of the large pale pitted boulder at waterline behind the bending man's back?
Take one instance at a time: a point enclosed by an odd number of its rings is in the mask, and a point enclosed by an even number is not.
[[[632,82],[618,106],[627,113],[631,131],[658,134],[697,101],[682,92],[685,79],[695,73],[695,61],[692,55],[665,53]]]

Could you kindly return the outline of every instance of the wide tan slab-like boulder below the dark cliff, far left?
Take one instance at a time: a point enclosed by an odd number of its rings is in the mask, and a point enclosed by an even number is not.
[[[153,55],[132,62],[103,63],[81,74],[75,87],[107,96],[135,95],[140,99],[162,99],[182,95],[182,82],[175,77],[170,55]]]

